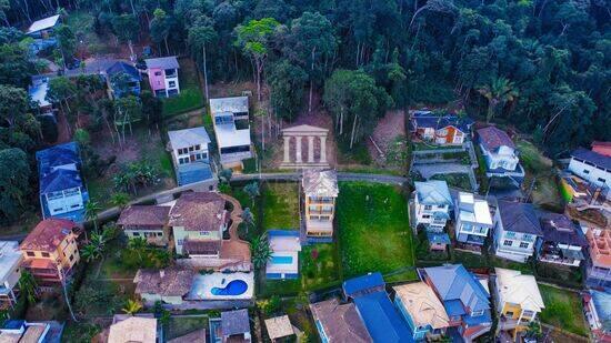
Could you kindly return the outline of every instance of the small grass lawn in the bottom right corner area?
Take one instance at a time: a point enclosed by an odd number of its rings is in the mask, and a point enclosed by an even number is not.
[[[578,293],[539,284],[545,309],[540,319],[543,323],[582,336],[588,335]]]

